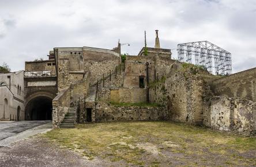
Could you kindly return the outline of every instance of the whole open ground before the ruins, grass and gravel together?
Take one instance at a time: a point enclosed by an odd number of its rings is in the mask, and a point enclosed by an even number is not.
[[[172,122],[81,124],[0,147],[0,166],[255,165],[255,137]]]

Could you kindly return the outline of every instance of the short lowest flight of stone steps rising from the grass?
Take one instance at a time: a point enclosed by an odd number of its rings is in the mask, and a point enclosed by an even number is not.
[[[60,128],[74,128],[76,123],[76,107],[69,107],[69,111],[65,115],[65,118],[59,125]]]

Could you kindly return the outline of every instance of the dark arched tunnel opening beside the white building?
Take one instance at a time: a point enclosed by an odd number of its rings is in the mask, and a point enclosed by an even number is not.
[[[52,120],[52,99],[47,96],[37,96],[25,106],[25,120]]]

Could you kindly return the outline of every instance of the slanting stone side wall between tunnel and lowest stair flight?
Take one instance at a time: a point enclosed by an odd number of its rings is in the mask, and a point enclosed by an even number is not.
[[[58,128],[70,106],[70,88],[64,88],[52,100],[52,127]]]

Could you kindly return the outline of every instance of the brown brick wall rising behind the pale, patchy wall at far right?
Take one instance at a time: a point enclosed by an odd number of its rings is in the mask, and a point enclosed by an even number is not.
[[[212,81],[216,96],[239,97],[256,102],[256,68]]]

